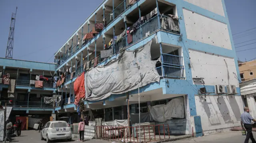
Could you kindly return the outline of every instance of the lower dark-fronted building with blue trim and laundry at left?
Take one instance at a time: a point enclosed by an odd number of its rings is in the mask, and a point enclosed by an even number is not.
[[[55,94],[54,72],[56,64],[0,58],[0,102],[11,108],[10,119],[16,116],[46,118],[54,113],[53,105],[44,103],[44,96]],[[10,77],[2,80],[6,75]],[[36,76],[43,76],[42,88],[35,86]],[[9,101],[12,100],[12,104]],[[50,118],[48,118],[50,119]]]

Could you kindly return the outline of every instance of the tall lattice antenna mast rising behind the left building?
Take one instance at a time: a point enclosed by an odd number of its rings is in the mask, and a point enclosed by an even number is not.
[[[12,53],[13,53],[12,50],[13,50],[13,39],[14,39],[14,26],[15,26],[17,9],[18,9],[18,7],[16,7],[15,14],[12,13],[9,37],[8,37],[8,42],[7,42],[6,54],[5,54],[5,58],[9,58],[9,59],[12,59]]]

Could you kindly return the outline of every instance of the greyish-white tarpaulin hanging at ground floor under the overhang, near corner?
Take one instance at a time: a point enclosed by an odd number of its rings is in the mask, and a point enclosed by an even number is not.
[[[185,118],[184,98],[174,98],[167,104],[148,106],[150,116],[154,121],[164,122],[172,118]]]

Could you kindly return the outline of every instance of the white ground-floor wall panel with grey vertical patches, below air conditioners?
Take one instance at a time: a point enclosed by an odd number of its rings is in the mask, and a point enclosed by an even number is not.
[[[244,112],[241,96],[195,95],[195,100],[204,134],[240,125],[240,115]]]

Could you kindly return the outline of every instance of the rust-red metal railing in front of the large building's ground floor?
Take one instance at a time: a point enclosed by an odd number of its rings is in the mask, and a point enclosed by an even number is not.
[[[98,139],[122,142],[138,143],[170,139],[168,124],[146,125],[141,126],[140,129],[139,127],[120,127],[119,125],[96,126],[95,131],[95,136]]]

